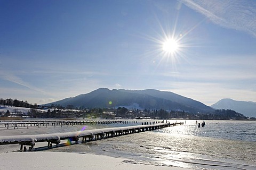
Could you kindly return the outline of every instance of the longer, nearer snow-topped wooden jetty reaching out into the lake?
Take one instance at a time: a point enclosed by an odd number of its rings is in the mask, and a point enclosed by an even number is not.
[[[160,124],[145,124],[145,125],[135,125],[135,126],[125,126],[119,128],[103,128],[94,130],[84,130],[77,132],[67,132],[67,133],[51,133],[51,134],[36,134],[36,135],[15,135],[15,136],[5,136],[0,137],[0,145],[11,145],[19,144],[20,150],[23,150],[23,146],[29,146],[29,151],[34,150],[35,143],[37,142],[48,142],[48,147],[52,147],[55,143],[57,147],[61,140],[67,140],[69,144],[72,141],[78,143],[79,139],[82,142],[88,142],[93,140],[100,140],[104,138],[117,137],[119,135],[132,134],[145,131],[153,131],[156,129],[162,129],[170,126],[182,125],[180,123],[160,123]],[[24,147],[25,149],[26,147]],[[26,149],[25,149],[26,150]]]

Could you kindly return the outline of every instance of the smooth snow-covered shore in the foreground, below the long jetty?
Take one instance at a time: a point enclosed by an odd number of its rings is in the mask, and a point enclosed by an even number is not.
[[[1,169],[176,169],[186,168],[156,166],[134,162],[126,158],[70,152],[7,152],[0,154]]]

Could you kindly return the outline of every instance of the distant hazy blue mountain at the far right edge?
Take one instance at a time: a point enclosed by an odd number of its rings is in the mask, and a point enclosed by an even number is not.
[[[231,109],[242,113],[247,117],[256,117],[256,103],[252,101],[236,101],[233,99],[221,99],[211,107],[215,109]]]

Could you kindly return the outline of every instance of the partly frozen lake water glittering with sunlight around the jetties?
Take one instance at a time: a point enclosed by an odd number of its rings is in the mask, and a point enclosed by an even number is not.
[[[150,120],[147,120],[150,121]],[[184,122],[185,120],[169,120]],[[141,122],[146,120],[138,121]],[[202,121],[198,121],[202,123]],[[133,164],[175,166],[191,169],[256,169],[256,121],[205,121],[198,128],[196,121],[155,131],[134,133],[115,138],[79,143],[50,151],[79,152],[129,158]],[[130,126],[115,124],[109,126]],[[48,126],[23,134],[79,131],[82,126]],[[87,129],[106,125],[87,125]],[[15,131],[18,133],[18,131]],[[36,147],[39,145],[36,144]],[[15,148],[17,149],[17,148]],[[45,150],[48,151],[48,150]]]

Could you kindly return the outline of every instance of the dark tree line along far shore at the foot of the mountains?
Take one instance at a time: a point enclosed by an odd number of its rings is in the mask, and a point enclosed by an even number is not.
[[[20,101],[17,99],[0,99],[0,104],[4,106],[13,106],[13,107],[26,107],[30,108],[30,111],[25,114],[18,111],[15,111],[14,115],[16,116],[30,116],[30,117],[74,117],[74,118],[137,118],[137,117],[150,117],[150,118],[159,118],[159,119],[190,119],[190,120],[248,120],[248,117],[244,116],[241,113],[237,113],[230,109],[216,109],[212,113],[189,113],[185,111],[166,111],[164,109],[144,109],[140,111],[139,109],[128,110],[125,107],[118,108],[75,108],[73,105],[67,105],[62,107],[60,105],[51,105],[48,108],[54,108],[53,111],[48,109],[47,113],[38,111],[37,104],[29,104],[27,101]],[[44,109],[45,106],[41,106]],[[73,109],[79,110],[74,111]],[[1,115],[9,116],[10,112],[1,113]],[[250,118],[255,120],[254,117]]]

